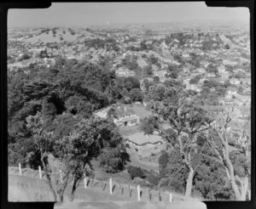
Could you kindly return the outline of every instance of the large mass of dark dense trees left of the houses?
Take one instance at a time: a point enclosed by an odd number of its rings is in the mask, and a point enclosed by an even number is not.
[[[125,78],[125,82],[126,86],[131,82],[129,91],[140,88],[136,78]],[[101,65],[78,63],[75,59],[60,58],[54,67],[35,68],[30,74],[9,71],[8,85],[10,165],[26,163],[25,152],[16,147],[22,141],[29,142],[27,116],[42,111],[47,131],[54,131],[55,135],[67,134],[72,127],[69,127],[73,123],[72,116],[89,118],[94,110],[123,97],[113,71],[106,71]],[[141,95],[135,92],[133,99],[141,99]],[[61,116],[64,112],[71,115]],[[27,146],[28,151],[30,147]]]

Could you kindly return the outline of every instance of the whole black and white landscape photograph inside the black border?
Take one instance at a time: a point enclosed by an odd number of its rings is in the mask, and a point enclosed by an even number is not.
[[[248,8],[9,9],[8,200],[251,201],[250,44]]]

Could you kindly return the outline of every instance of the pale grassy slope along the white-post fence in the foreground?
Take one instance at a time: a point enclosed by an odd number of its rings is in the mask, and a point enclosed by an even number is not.
[[[27,176],[25,176],[27,175]],[[129,179],[127,173],[108,174],[97,172],[97,178],[104,177],[105,180],[113,178],[113,195],[109,194],[109,185],[104,188],[104,183],[100,180],[89,181],[87,189],[81,183],[76,191],[74,201],[137,201],[136,185],[131,185],[131,196],[128,185]],[[108,182],[108,181],[107,181]],[[120,183],[120,184],[119,184]],[[130,182],[131,184],[131,182]],[[124,188],[124,189],[122,189]],[[149,201],[148,189],[142,190],[142,201]],[[68,186],[64,195],[64,201],[69,200],[71,187]],[[151,201],[159,201],[158,191],[152,191]],[[169,195],[162,193],[161,201],[169,201]],[[183,196],[173,193],[174,201],[182,200]],[[53,195],[46,184],[45,179],[38,178],[38,172],[27,169],[22,176],[19,175],[18,168],[9,168],[9,201],[54,201]]]

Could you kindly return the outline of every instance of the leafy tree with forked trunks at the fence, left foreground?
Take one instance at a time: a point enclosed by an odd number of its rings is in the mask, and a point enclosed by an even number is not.
[[[103,166],[108,166],[108,172],[124,169],[129,156],[125,151],[123,138],[111,120],[94,117],[82,119],[74,124],[68,134],[61,136],[61,134],[54,135],[44,128],[44,117],[41,113],[26,118],[26,127],[32,132],[32,144],[35,146],[35,150],[28,153],[28,161],[35,161],[35,155],[38,153],[55,201],[63,201],[64,191],[70,181],[72,182],[70,200],[73,201],[79,182],[84,174],[93,169],[90,161],[99,155],[104,157],[105,149],[114,155],[111,161],[108,161],[109,158],[106,159],[107,161],[102,161]],[[49,155],[54,156],[55,163],[48,160]],[[52,172],[55,167],[61,169],[63,174],[61,182],[55,181],[56,173]]]

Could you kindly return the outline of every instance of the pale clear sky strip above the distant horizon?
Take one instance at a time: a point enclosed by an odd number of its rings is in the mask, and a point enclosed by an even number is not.
[[[248,8],[208,8],[190,3],[52,3],[49,8],[9,9],[9,27],[160,23],[186,20],[249,22]]]

